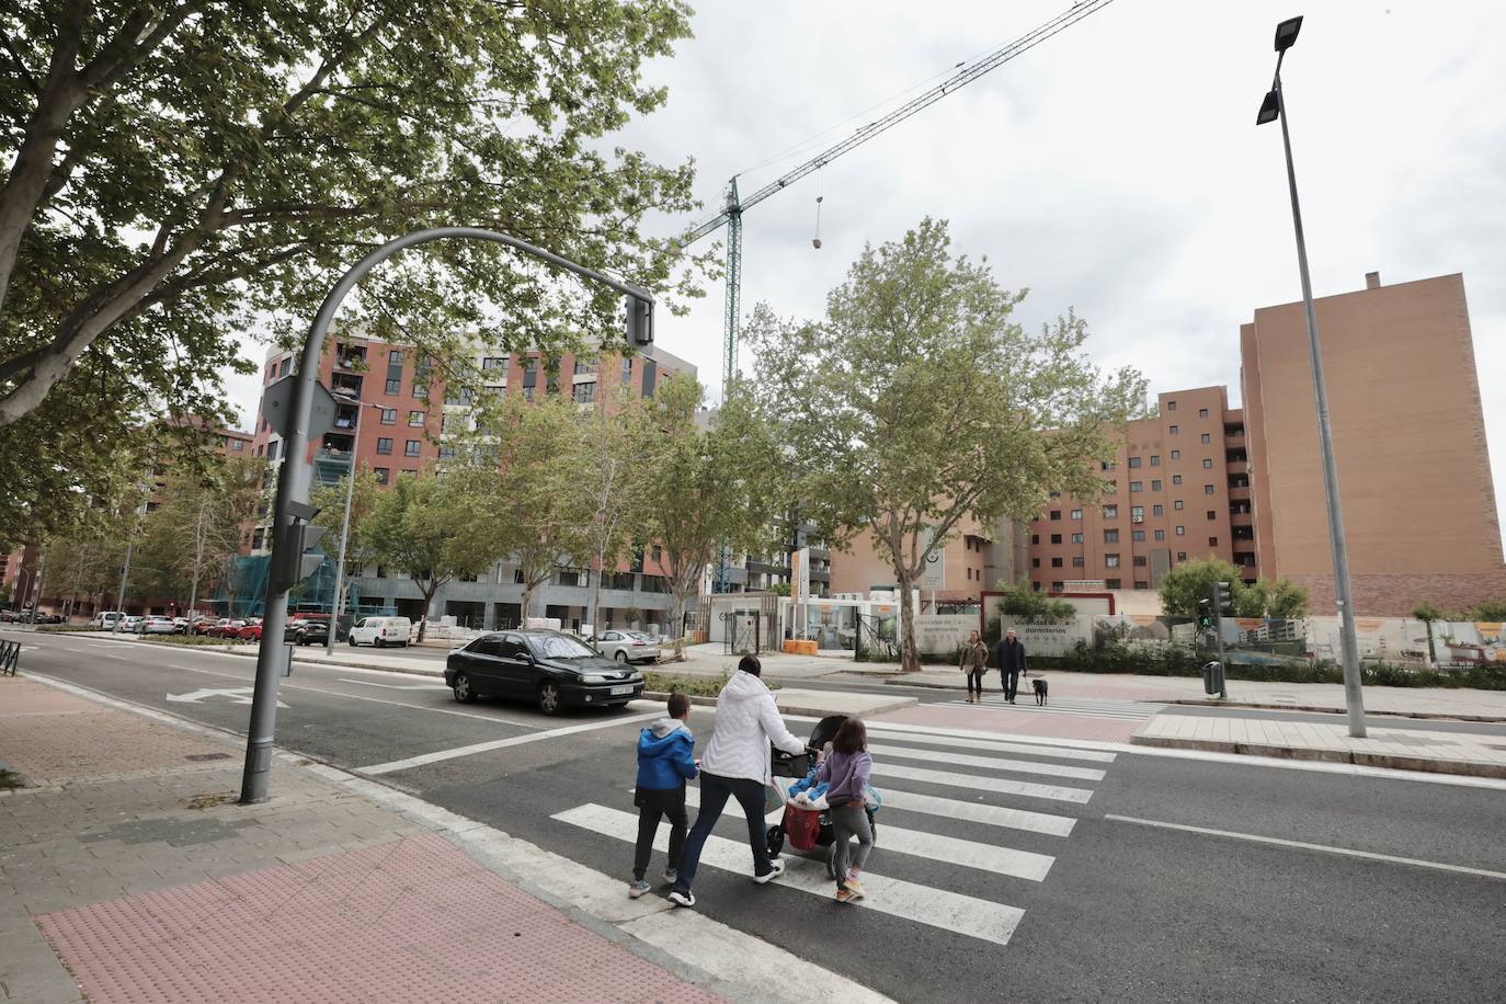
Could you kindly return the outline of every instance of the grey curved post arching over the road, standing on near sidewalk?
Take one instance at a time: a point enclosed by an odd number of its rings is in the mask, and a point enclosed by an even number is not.
[[[292,406],[286,443],[283,444],[282,471],[277,477],[277,501],[273,510],[273,573],[267,577],[267,605],[262,617],[261,647],[256,653],[256,686],[252,694],[252,721],[245,739],[245,768],[241,775],[239,801],[242,805],[267,801],[267,781],[273,762],[273,735],[277,724],[277,679],[280,662],[286,652],[283,647],[283,632],[288,623],[288,590],[291,587],[288,577],[277,573],[277,569],[295,567],[298,564],[300,555],[289,555],[285,548],[292,546],[292,542],[301,540],[295,522],[312,516],[312,510],[309,509],[309,426],[313,409],[313,384],[319,373],[319,357],[324,354],[324,337],[328,334],[334,312],[339,310],[345,297],[366,272],[398,251],[417,244],[450,238],[506,244],[524,254],[616,289],[628,298],[630,345],[645,346],[654,340],[654,295],[648,291],[619,281],[610,275],[602,275],[595,269],[508,236],[506,233],[479,227],[414,230],[383,244],[345,272],[340,281],[334,283],[334,289],[324,298],[319,313],[313,318],[313,325],[309,328],[309,339],[304,342],[303,355],[298,360],[298,373],[294,376]],[[301,549],[298,548],[298,551]],[[334,625],[330,625],[330,631],[334,631]]]

